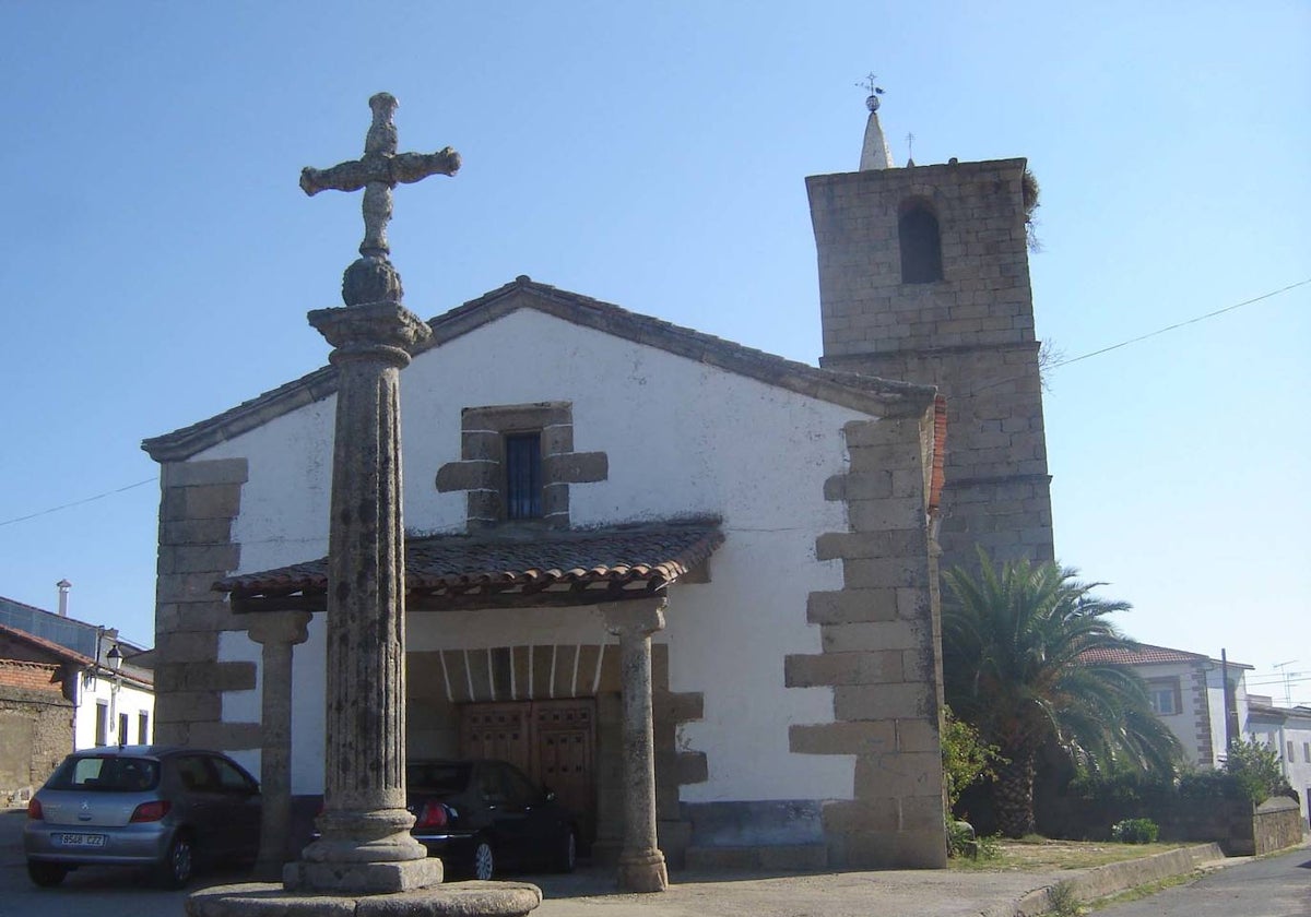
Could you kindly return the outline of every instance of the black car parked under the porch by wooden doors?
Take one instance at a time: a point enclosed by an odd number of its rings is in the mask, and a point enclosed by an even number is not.
[[[555,794],[505,761],[410,761],[410,833],[455,872],[490,879],[506,870],[572,872],[578,829]]]

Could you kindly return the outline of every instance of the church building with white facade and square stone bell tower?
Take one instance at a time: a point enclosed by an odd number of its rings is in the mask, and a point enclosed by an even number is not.
[[[806,186],[819,367],[519,276],[400,376],[408,757],[515,762],[597,859],[642,690],[671,867],[944,866],[939,567],[1053,557],[1024,160],[895,168],[872,110]],[[156,735],[266,795],[324,787],[336,394],[144,443]]]

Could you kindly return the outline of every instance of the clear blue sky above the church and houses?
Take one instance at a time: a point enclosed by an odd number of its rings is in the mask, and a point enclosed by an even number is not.
[[[0,595],[153,641],[143,438],[321,365],[366,100],[429,317],[528,274],[814,362],[804,177],[1025,156],[1067,358],[1311,278],[1311,5],[0,0]],[[1051,372],[1057,552],[1138,639],[1308,677],[1311,284]],[[122,490],[128,485],[143,486]],[[101,499],[25,521],[85,498]],[[1282,690],[1274,693],[1282,698]]]

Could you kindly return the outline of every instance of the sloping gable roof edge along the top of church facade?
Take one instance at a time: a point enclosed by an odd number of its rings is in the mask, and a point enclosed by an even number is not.
[[[929,385],[819,369],[629,312],[611,303],[536,283],[527,276],[519,276],[513,283],[433,318],[429,321],[433,337],[413,352],[417,355],[439,347],[518,309],[536,309],[582,328],[657,347],[873,417],[918,417],[933,403],[935,389]],[[182,461],[336,392],[337,371],[330,365],[323,367],[207,421],[147,439],[142,448],[155,461]]]

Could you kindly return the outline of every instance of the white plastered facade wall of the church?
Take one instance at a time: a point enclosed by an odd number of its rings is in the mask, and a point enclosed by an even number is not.
[[[806,595],[842,588],[842,570],[815,559],[814,540],[847,529],[846,507],[823,499],[823,482],[846,470],[842,426],[871,418],[520,310],[420,355],[402,372],[406,529],[464,528],[465,495],[439,494],[434,485],[438,468],[460,458],[461,409],[541,401],[572,402],[574,449],[608,456],[607,481],[570,487],[574,525],[722,517],[726,542],[711,561],[712,582],[676,587],[667,630],[657,637],[670,645],[670,689],[704,693],[704,720],[684,724],[679,741],[705,752],[709,779],[683,787],[683,798],[850,798],[852,757],[788,751],[788,726],[831,722],[832,696],[784,688],[783,660],[821,651],[819,629],[805,620]],[[240,572],[326,553],[333,411],[329,398],[197,456],[249,462],[233,524]],[[503,627],[488,633],[472,617],[410,616],[409,646],[507,642]],[[295,793],[321,791],[320,618],[295,652]],[[604,634],[586,609],[552,612],[549,626],[536,629],[530,618],[520,624],[543,643]],[[228,634],[220,659],[257,660],[257,650],[244,634]],[[224,697],[225,720],[250,717],[258,718],[257,703]]]

